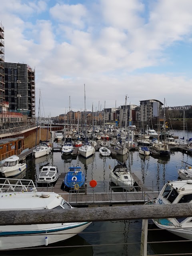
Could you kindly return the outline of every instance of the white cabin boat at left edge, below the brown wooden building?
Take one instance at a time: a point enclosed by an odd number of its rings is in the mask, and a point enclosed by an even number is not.
[[[13,155],[5,159],[4,166],[0,168],[0,174],[5,178],[14,177],[26,168],[26,163],[19,163],[19,157]]]

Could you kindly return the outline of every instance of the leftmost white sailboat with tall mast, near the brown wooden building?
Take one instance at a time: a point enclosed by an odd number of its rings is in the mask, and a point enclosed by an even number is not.
[[[41,97],[41,91],[39,95],[39,117],[40,117],[40,97]],[[38,132],[38,126],[37,126],[37,132]],[[41,141],[41,118],[39,121],[39,140],[40,140],[39,146],[33,150],[33,155],[35,158],[46,156],[51,152],[51,147],[48,146],[46,142]]]

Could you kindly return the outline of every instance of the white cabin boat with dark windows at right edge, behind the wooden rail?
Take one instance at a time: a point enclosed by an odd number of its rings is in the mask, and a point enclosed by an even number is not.
[[[180,204],[192,202],[192,180],[168,181],[162,188],[156,200],[150,200],[146,204]],[[154,224],[161,229],[185,239],[192,240],[191,222],[188,218],[161,218],[152,219]]]

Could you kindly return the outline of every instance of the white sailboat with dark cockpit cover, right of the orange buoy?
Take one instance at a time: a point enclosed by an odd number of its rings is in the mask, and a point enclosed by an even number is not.
[[[109,177],[112,182],[126,191],[134,190],[134,179],[125,162],[124,164],[118,162],[114,169],[110,169]]]

